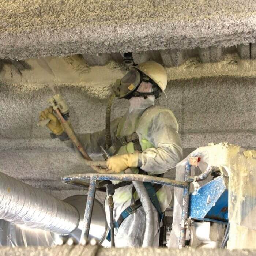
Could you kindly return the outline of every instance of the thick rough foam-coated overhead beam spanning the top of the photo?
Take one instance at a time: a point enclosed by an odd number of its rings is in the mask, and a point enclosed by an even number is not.
[[[180,49],[215,59],[207,48],[255,43],[256,3],[2,0],[0,17],[1,59],[173,49],[176,62]]]

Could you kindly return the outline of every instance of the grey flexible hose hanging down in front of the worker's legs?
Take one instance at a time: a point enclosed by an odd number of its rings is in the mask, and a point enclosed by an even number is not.
[[[153,204],[151,203],[150,197],[148,196],[147,189],[144,187],[142,182],[133,181],[133,186],[135,187],[140,202],[146,213],[146,228],[143,238],[142,247],[152,247],[155,238],[154,231],[154,215],[153,215]]]

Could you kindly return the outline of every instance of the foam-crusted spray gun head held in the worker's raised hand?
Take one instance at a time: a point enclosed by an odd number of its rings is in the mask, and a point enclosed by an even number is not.
[[[53,110],[56,111],[56,109],[59,109],[60,113],[64,117],[65,120],[68,120],[69,117],[69,111],[68,111],[68,105],[62,98],[60,94],[56,94],[53,97],[49,98],[48,103],[50,103],[53,107]],[[46,126],[50,122],[50,119],[44,119],[37,123],[37,126]]]

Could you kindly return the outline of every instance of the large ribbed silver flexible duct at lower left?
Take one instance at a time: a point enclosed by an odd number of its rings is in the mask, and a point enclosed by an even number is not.
[[[78,226],[80,217],[74,206],[0,173],[0,219],[69,234]]]

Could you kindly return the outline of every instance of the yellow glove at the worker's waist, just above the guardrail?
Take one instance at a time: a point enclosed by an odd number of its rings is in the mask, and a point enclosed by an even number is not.
[[[112,172],[119,173],[129,167],[138,167],[138,153],[128,153],[124,155],[114,155],[110,157],[106,163],[108,169]]]

